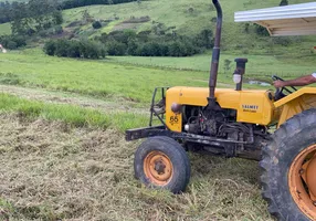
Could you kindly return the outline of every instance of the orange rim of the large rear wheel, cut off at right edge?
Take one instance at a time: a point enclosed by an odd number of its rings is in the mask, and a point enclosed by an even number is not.
[[[316,220],[316,145],[304,149],[294,159],[288,171],[288,186],[297,207]]]

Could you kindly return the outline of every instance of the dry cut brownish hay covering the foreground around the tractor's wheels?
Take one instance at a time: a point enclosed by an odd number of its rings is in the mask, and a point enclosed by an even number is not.
[[[0,220],[272,220],[253,161],[190,155],[186,193],[134,179],[115,130],[0,115]]]

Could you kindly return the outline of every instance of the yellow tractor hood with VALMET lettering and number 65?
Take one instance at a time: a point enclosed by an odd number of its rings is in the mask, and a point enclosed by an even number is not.
[[[173,113],[173,104],[201,106],[208,105],[208,88],[172,87],[167,91],[166,124],[173,131],[182,131],[182,114]],[[235,109],[236,122],[270,125],[280,117],[274,108],[273,93],[270,91],[234,91],[219,88],[215,91],[217,102],[221,108]]]

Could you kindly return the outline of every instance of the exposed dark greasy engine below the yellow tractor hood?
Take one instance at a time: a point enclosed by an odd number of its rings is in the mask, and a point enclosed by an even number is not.
[[[227,157],[259,159],[261,148],[267,140],[268,133],[264,126],[238,123],[234,109],[185,106],[182,114],[186,133],[196,135],[197,138],[210,138],[210,141],[198,150],[203,149]]]

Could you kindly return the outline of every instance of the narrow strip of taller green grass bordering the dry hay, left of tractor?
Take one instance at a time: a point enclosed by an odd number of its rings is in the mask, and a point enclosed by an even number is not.
[[[0,112],[19,113],[21,117],[31,119],[61,120],[76,127],[110,127],[122,133],[143,127],[148,122],[148,117],[139,113],[116,112],[106,115],[95,109],[22,99],[4,93],[0,93]]]

